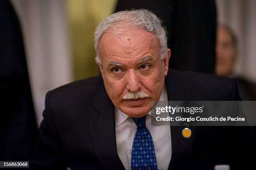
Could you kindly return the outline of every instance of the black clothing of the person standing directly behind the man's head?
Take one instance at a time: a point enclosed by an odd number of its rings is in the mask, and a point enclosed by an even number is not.
[[[116,11],[145,8],[164,21],[172,55],[169,67],[214,73],[214,0],[118,0]]]

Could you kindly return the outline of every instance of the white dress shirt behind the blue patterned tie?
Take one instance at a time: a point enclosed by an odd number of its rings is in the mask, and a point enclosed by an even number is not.
[[[168,101],[166,87],[160,101]],[[167,170],[172,156],[170,126],[151,126],[151,111],[146,116],[146,127],[154,141],[158,170]],[[118,156],[126,170],[131,170],[131,153],[137,126],[131,117],[115,107],[115,138]]]

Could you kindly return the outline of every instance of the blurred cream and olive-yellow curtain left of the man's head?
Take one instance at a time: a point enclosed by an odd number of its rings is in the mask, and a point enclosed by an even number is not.
[[[46,92],[100,71],[93,32],[116,0],[11,0],[23,33],[38,125]]]

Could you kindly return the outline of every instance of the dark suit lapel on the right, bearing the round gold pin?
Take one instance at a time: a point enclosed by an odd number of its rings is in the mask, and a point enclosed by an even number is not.
[[[169,69],[166,76],[166,88],[169,101],[184,101],[189,100],[187,94],[184,93],[182,83],[179,82],[179,77],[173,73],[175,70]],[[190,138],[186,139],[182,136],[182,130],[189,128],[192,131]],[[195,140],[195,126],[171,126],[172,137],[172,158],[168,170],[185,169],[189,166],[189,160],[192,156],[192,149]]]

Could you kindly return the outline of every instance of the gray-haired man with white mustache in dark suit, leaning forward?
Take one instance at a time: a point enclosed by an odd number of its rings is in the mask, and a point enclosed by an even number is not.
[[[101,76],[47,93],[32,169],[212,169],[248,159],[246,130],[190,127],[184,138],[183,126],[151,126],[152,101],[240,100],[234,79],[168,68],[156,15],[110,15],[95,30],[95,50]]]

